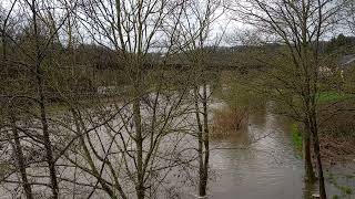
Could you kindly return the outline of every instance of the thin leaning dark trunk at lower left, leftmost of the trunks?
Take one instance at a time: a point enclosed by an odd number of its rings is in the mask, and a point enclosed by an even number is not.
[[[27,178],[27,172],[26,172],[26,160],[23,157],[23,151],[22,151],[22,146],[21,146],[21,142],[20,142],[20,136],[19,136],[19,132],[17,129],[17,125],[16,125],[16,118],[13,113],[11,114],[11,128],[12,128],[12,134],[13,134],[13,139],[14,139],[14,153],[16,153],[16,159],[17,159],[17,164],[18,164],[18,168],[21,175],[21,180],[22,180],[22,187],[26,193],[26,198],[27,199],[33,199],[32,196],[32,189],[31,189],[31,185],[29,184],[29,180]]]

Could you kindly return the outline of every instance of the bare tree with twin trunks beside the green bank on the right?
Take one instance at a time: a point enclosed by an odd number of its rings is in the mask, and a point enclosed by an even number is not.
[[[317,96],[320,93],[320,67],[323,66],[320,41],[334,24],[333,17],[338,9],[339,7],[332,0],[272,2],[252,0],[237,1],[234,10],[246,23],[268,34],[267,39],[273,39],[275,43],[285,46],[286,53],[283,56],[290,66],[284,64],[282,66],[288,74],[273,74],[277,83],[275,90],[282,94],[287,88],[302,101],[302,108],[295,113],[306,128],[303,136],[305,169],[307,177],[313,179],[310,150],[312,135],[318,168],[321,198],[326,198],[326,193],[318,143]],[[267,64],[267,61],[262,62]],[[286,67],[287,70],[285,70]],[[278,85],[282,85],[283,90]]]

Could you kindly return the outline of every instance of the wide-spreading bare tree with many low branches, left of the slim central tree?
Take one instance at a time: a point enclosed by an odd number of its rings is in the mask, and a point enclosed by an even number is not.
[[[186,112],[186,108],[182,108],[186,87],[179,94],[169,92],[163,70],[173,51],[179,13],[184,3],[164,0],[90,0],[83,2],[81,14],[77,15],[81,18],[85,32],[94,43],[115,53],[115,59],[123,62],[123,69],[114,69],[112,72],[123,73],[128,81],[123,105],[122,100],[113,97],[110,102],[112,108],[109,108],[111,117],[108,121],[98,122],[100,118],[92,117],[90,112],[72,106],[74,132],[89,167],[75,163],[71,156],[67,159],[94,177],[101,189],[112,198],[116,198],[115,191],[120,197],[128,198],[132,195],[131,187],[134,187],[136,198],[155,195],[158,185],[164,181],[169,170],[186,164],[169,158],[178,151],[173,143],[169,147],[172,150],[165,148],[166,154],[162,153],[162,142],[173,137],[174,132],[179,135],[180,130],[184,130],[180,129],[184,126],[181,126],[181,122],[178,122],[179,125],[175,123]],[[151,63],[151,70],[150,56],[156,52],[164,56]],[[114,83],[108,87],[111,87],[110,96],[118,96],[123,85]],[[108,87],[104,90],[109,90]],[[106,107],[102,106],[97,111],[102,118],[106,118]],[[98,126],[94,125],[98,123],[102,124],[101,128],[90,127]],[[105,139],[100,130],[106,133],[103,134]],[[102,147],[98,147],[94,142],[100,142],[99,146]],[[106,143],[111,143],[112,147],[103,147]],[[166,163],[163,163],[164,159]],[[98,163],[102,164],[101,168],[108,167],[109,171],[100,171],[102,169],[98,167]],[[115,169],[116,167],[120,169]],[[160,172],[165,175],[161,176]],[[113,182],[106,179],[106,175],[111,176]]]

